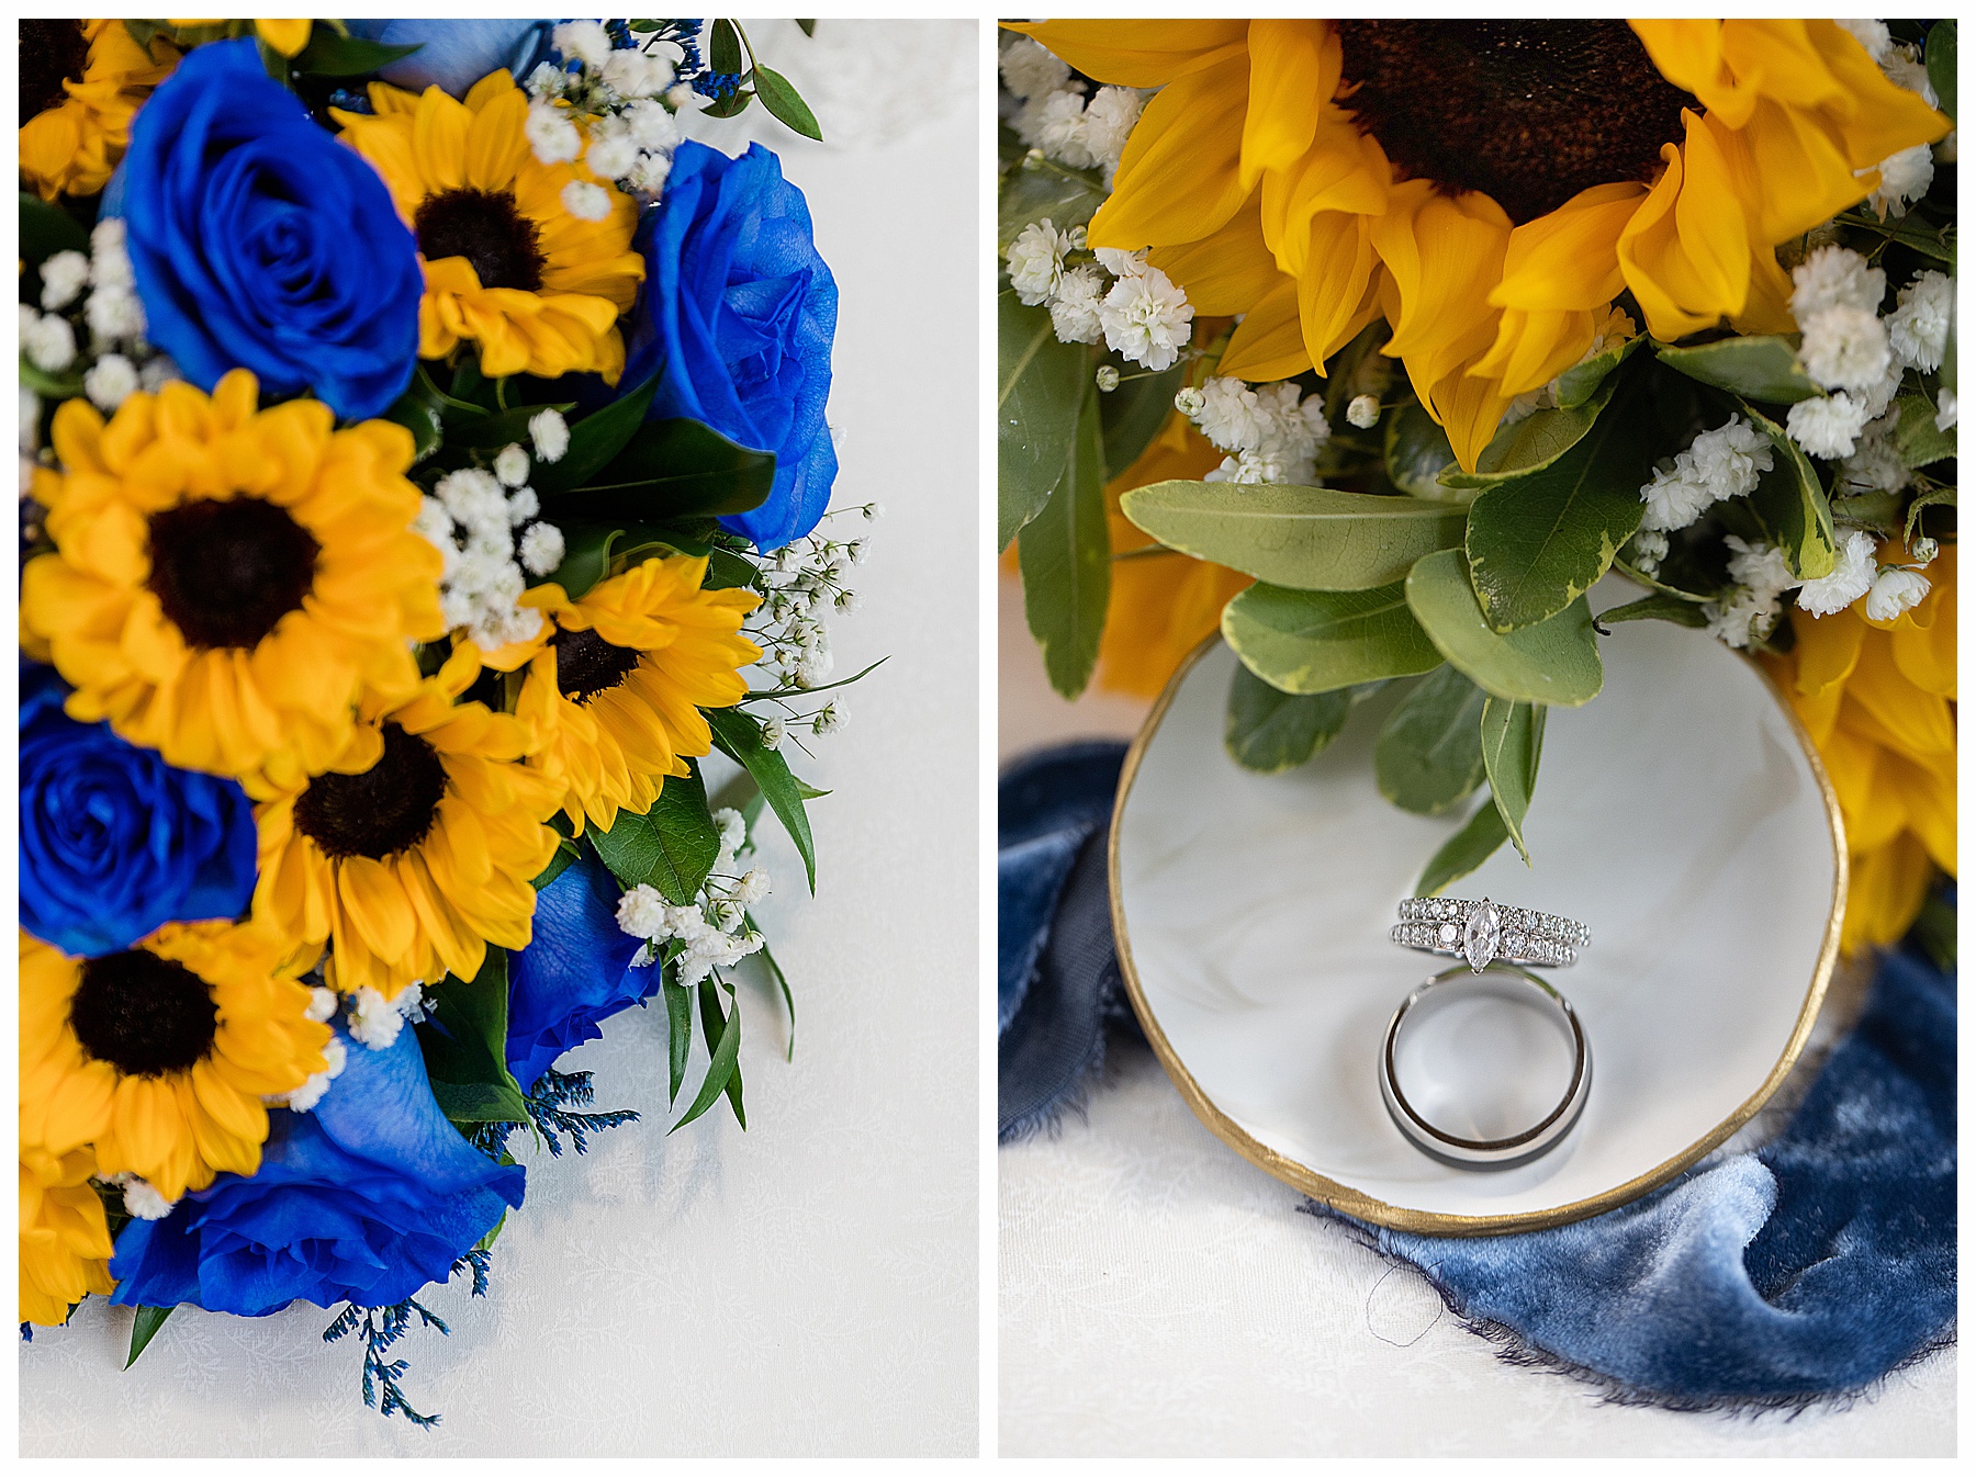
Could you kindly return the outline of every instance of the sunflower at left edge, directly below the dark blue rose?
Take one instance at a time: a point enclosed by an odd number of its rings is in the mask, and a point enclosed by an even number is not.
[[[71,960],[20,936],[20,1139],[166,1201],[261,1167],[263,1094],[326,1070],[330,1027],[257,924],[166,924],[136,948]]]

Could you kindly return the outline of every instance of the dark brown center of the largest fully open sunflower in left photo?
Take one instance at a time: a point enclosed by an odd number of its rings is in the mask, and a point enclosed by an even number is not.
[[[146,584],[192,646],[257,646],[302,608],[318,553],[275,504],[200,498],[150,515]]]

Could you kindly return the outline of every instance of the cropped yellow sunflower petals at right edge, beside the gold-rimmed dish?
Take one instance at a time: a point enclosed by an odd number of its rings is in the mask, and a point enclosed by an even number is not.
[[[1956,551],[1893,620],[1859,606],[1790,612],[1792,648],[1767,656],[1804,719],[1846,817],[1848,952],[1893,944],[1921,914],[1935,867],[1956,871]]]

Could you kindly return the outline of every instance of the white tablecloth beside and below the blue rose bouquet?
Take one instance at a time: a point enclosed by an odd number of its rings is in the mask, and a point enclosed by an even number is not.
[[[761,987],[743,991],[747,1133],[721,1104],[666,1137],[662,1013],[620,1015],[563,1062],[595,1070],[599,1108],[644,1122],[583,1159],[530,1153],[490,1295],[454,1280],[425,1299],[453,1335],[413,1333],[397,1353],[437,1430],[364,1408],[360,1349],[324,1345],[320,1309],[180,1311],[123,1372],[130,1313],[91,1299],[22,1351],[24,1453],[974,1451],[976,30],[832,36],[850,26],[820,24],[824,63],[891,57],[935,91],[915,115],[856,118],[850,148],[761,132],[808,194],[842,288],[838,500],[887,507],[854,525],[873,539],[856,571],[865,606],[834,642],[840,675],[891,661],[850,689],[844,735],[812,762],[792,754],[834,792],[812,806],[814,902],[786,843],[769,851],[761,914],[796,989],[794,1064]],[[786,69],[830,132],[836,95]]]

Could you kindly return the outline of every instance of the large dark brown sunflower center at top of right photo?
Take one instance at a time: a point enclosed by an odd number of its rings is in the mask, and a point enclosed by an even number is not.
[[[1652,180],[1699,103],[1622,20],[1340,20],[1340,97],[1407,178],[1480,190],[1518,225]]]

